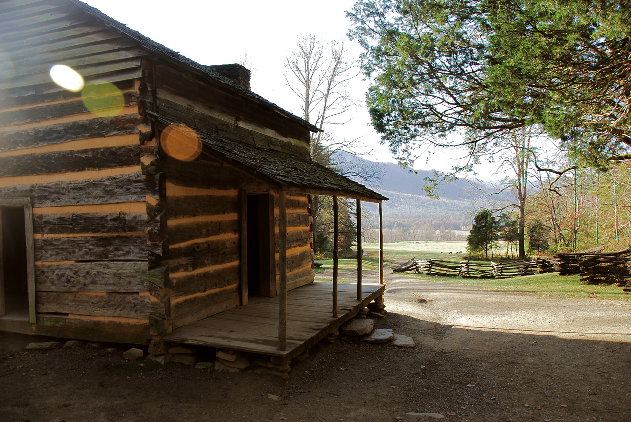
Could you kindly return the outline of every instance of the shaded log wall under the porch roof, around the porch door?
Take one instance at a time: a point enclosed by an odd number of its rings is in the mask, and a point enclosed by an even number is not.
[[[207,157],[208,158],[208,157]],[[209,159],[183,163],[164,157],[168,215],[168,292],[172,328],[240,304],[242,191],[274,196],[278,244],[278,192]],[[313,281],[311,217],[306,195],[288,195],[288,288]],[[278,279],[278,248],[276,248]],[[276,282],[278,294],[278,282]]]

